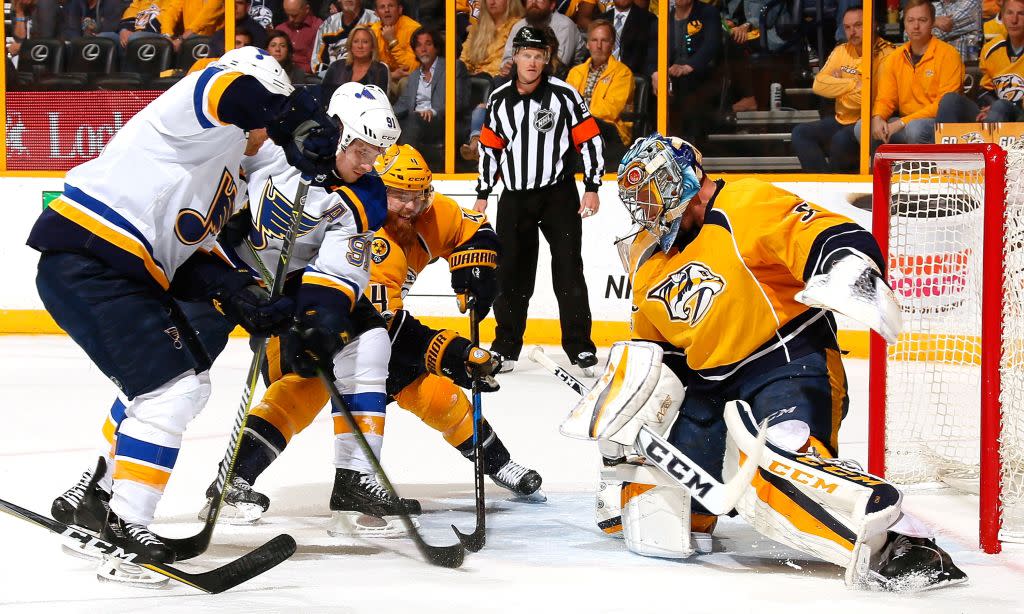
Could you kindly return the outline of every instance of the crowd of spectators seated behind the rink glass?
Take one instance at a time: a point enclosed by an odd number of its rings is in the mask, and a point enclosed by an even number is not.
[[[825,0],[821,14],[808,13],[813,2],[660,1],[670,19],[665,76],[658,0],[456,0],[452,75],[440,0],[234,0],[231,46],[267,49],[293,82],[322,83],[327,96],[350,81],[385,89],[401,142],[433,168],[443,161],[446,113],[456,117],[459,158],[467,168],[478,161],[487,93],[514,77],[512,41],[524,26],[545,33],[552,74],[597,120],[608,170],[638,129],[652,129],[662,95],[669,133],[702,144],[740,114],[782,117],[782,92],[811,85],[805,98],[820,117],[792,124],[792,152],[811,172],[855,172],[862,135],[872,148],[927,143],[936,123],[1024,116],[1024,0],[901,0],[889,24],[892,3],[880,2],[874,32],[863,28],[859,0]],[[792,6],[802,7],[801,18]],[[211,57],[227,46],[223,0],[13,0],[7,20],[9,70],[32,39],[106,38],[119,59],[139,39],[163,38],[178,53],[202,42]],[[870,91],[862,92],[867,71]],[[447,79],[455,100],[445,99]],[[870,122],[862,127],[864,103]]]

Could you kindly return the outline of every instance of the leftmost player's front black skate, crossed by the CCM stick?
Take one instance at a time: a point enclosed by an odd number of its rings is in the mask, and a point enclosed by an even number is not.
[[[161,541],[160,537],[143,525],[125,522],[113,512],[108,514],[99,536],[126,553],[138,555],[142,563],[174,563],[174,551]],[[166,576],[113,557],[103,557],[96,569],[96,576],[101,580],[143,587],[159,587],[167,583]]]

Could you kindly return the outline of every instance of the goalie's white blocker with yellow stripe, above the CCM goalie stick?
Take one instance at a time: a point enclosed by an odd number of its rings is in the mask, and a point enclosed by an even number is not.
[[[562,434],[632,445],[643,425],[666,433],[685,389],[672,369],[663,366],[662,356],[662,348],[653,343],[614,344],[604,374],[562,423]]]

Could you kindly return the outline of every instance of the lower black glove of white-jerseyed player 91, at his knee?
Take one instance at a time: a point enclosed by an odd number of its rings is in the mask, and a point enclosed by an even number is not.
[[[334,356],[352,337],[352,322],[339,309],[302,311],[284,340],[285,356],[292,370],[303,378],[315,378],[317,367],[334,372]]]

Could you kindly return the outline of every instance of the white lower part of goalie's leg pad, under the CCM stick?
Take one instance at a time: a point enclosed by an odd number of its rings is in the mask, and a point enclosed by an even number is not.
[[[623,536],[630,552],[644,557],[685,559],[690,540],[690,494],[685,488],[624,482]]]

